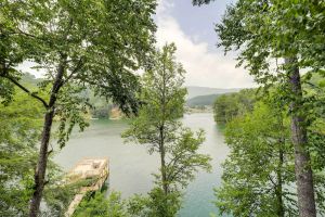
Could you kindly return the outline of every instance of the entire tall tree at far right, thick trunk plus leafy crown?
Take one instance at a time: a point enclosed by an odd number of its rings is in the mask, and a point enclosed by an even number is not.
[[[320,50],[324,40],[324,2],[322,1],[237,1],[229,7],[216,27],[219,46],[225,52],[239,50],[239,65],[245,64],[259,84],[282,84],[283,97],[290,105],[291,140],[295,148],[299,215],[316,216],[313,174],[308,141],[308,110],[300,69],[312,74],[324,68]],[[277,64],[277,60],[284,64]],[[274,67],[275,66],[275,67]]]

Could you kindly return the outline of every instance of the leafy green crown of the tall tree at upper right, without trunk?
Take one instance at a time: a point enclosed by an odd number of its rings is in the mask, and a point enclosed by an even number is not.
[[[265,86],[286,81],[283,73],[288,67],[283,67],[281,58],[299,54],[299,67],[311,67],[313,73],[320,69],[320,60],[311,52],[323,60],[323,54],[317,53],[318,41],[311,40],[324,37],[320,26],[325,21],[321,15],[323,8],[324,3],[316,1],[238,1],[227,8],[222,23],[216,26],[219,46],[225,52],[243,48],[238,65],[245,64],[256,80]]]

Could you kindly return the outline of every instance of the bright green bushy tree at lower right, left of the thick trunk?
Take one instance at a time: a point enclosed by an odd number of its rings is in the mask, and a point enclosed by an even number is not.
[[[221,214],[295,216],[295,171],[288,122],[281,107],[259,102],[227,124],[231,153],[223,164],[222,187],[216,190]]]

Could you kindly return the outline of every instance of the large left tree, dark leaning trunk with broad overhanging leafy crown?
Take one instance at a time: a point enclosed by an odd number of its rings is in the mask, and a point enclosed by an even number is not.
[[[86,87],[135,112],[138,78],[132,73],[146,64],[155,25],[153,1],[2,1],[0,7],[0,78],[9,91],[21,88],[42,103],[46,112],[35,173],[29,216],[37,216],[46,180],[54,116],[60,118],[58,142],[67,141],[75,125],[82,130]],[[17,64],[30,60],[46,71],[39,90],[20,82]],[[6,89],[6,88],[5,88]]]

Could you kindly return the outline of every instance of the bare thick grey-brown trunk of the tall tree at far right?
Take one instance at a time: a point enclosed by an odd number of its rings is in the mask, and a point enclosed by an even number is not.
[[[298,207],[300,217],[315,217],[315,197],[310,153],[308,150],[306,117],[301,114],[302,89],[299,68],[296,59],[285,59],[289,66],[289,84],[292,100],[291,110],[291,140],[295,146],[295,170],[298,190]]]

